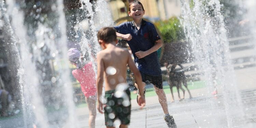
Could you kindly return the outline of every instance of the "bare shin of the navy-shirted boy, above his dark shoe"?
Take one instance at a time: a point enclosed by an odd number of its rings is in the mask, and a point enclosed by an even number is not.
[[[163,89],[159,89],[156,86],[154,86],[154,88],[155,88],[156,94],[158,96],[159,103],[162,106],[163,113],[168,114],[169,113],[168,112],[168,104],[167,104],[165,92],[163,91]]]

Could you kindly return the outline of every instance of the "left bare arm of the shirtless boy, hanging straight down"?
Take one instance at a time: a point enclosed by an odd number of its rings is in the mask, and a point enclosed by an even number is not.
[[[98,92],[98,110],[100,113],[103,113],[103,104],[100,101],[101,95],[102,95],[102,86],[103,86],[103,81],[104,81],[104,63],[102,56],[100,54],[97,55],[97,81],[96,81],[96,87],[97,87],[97,92]]]

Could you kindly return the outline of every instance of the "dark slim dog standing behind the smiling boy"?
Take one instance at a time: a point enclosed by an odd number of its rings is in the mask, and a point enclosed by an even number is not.
[[[179,65],[181,67],[180,70],[175,69],[177,65]],[[172,93],[172,102],[174,102],[174,96],[173,96],[173,90],[172,90],[173,86],[176,86],[176,88],[177,88],[179,100],[184,99],[185,90],[182,88],[182,84],[187,88],[187,78],[186,78],[186,75],[185,75],[184,67],[181,64],[173,64],[170,67],[170,66],[168,66],[167,63],[165,63],[165,66],[166,66],[166,69],[167,69],[167,75],[169,75],[168,83],[169,83],[171,93]],[[183,98],[182,99],[181,99],[181,96],[180,96],[180,89],[183,91]],[[187,88],[187,91],[188,91],[188,94],[189,94],[189,98],[192,98],[191,93],[190,93],[188,88]]]

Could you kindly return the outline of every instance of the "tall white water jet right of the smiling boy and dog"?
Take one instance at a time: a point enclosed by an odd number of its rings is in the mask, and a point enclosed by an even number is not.
[[[214,90],[214,81],[219,83],[218,88],[224,88],[228,127],[237,126],[236,121],[243,120],[244,112],[234,79],[233,66],[230,63],[229,43],[224,17],[221,14],[221,4],[218,0],[192,2],[194,5],[188,0],[182,0],[181,22],[187,41],[190,42],[195,61],[200,62],[199,68],[206,76],[204,79],[207,82],[208,94]],[[214,109],[216,101],[210,102]]]

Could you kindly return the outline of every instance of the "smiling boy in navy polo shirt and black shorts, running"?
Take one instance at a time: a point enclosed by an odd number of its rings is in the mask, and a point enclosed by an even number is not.
[[[164,119],[169,128],[176,128],[172,116],[168,112],[168,105],[162,85],[162,72],[157,56],[157,50],[162,46],[162,41],[155,26],[142,19],[145,10],[141,2],[135,0],[129,5],[129,16],[133,21],[116,26],[116,35],[130,46],[134,61],[141,72],[142,81],[150,81],[154,84],[159,103],[162,106]]]

